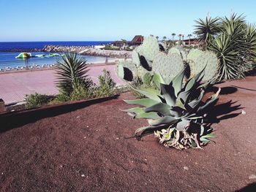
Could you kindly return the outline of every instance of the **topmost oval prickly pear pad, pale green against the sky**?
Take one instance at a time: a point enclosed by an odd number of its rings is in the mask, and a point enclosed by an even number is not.
[[[154,57],[159,53],[159,45],[155,37],[146,37],[142,44],[143,56],[148,61],[153,61]]]

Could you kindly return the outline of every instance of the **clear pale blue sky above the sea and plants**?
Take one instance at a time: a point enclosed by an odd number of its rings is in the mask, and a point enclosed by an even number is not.
[[[244,13],[255,0],[0,0],[0,42],[130,40],[136,34],[192,34],[194,20]]]

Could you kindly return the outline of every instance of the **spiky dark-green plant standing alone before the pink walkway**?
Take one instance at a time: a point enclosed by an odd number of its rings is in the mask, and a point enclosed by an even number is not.
[[[92,82],[89,79],[89,72],[86,61],[78,58],[75,53],[66,53],[61,56],[62,60],[57,61],[57,86],[61,93],[69,96],[72,91],[79,87],[89,88]]]

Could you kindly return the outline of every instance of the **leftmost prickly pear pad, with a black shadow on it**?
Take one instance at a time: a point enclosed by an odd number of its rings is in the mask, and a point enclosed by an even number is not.
[[[138,69],[131,61],[119,61],[116,65],[116,74],[123,80],[132,81],[138,77]]]

